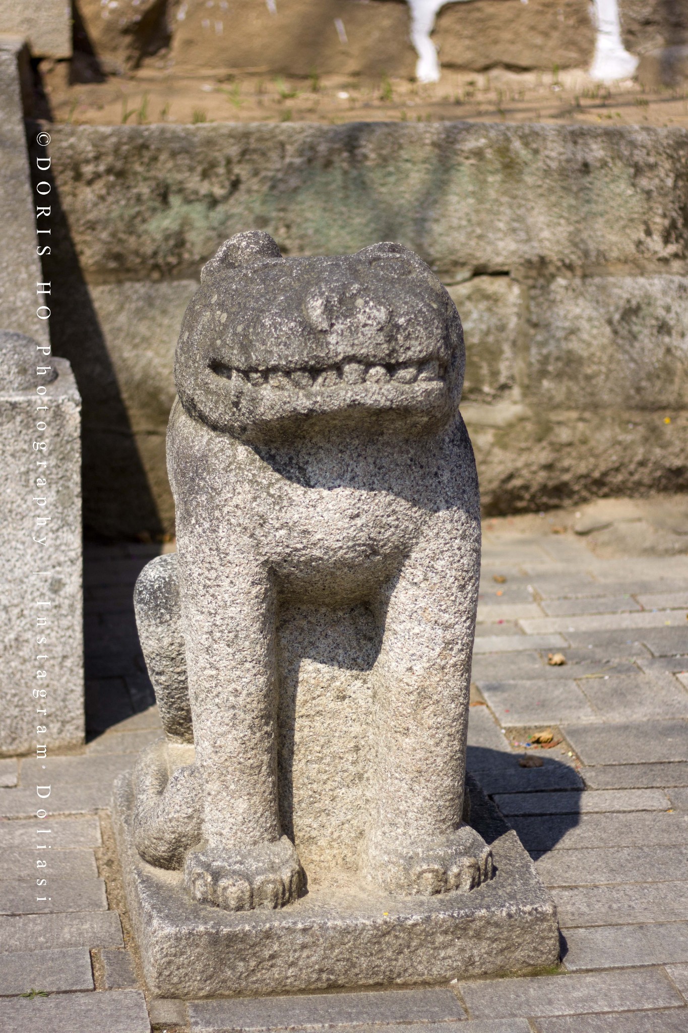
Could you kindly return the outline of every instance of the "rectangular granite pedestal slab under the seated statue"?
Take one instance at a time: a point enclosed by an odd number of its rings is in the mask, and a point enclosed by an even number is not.
[[[197,904],[181,872],[152,868],[131,838],[129,774],[114,785],[118,849],[145,980],[158,997],[446,982],[559,959],[556,909],[516,833],[481,791],[471,824],[495,877],[469,894],[391,897],[367,883],[317,885],[277,911]]]

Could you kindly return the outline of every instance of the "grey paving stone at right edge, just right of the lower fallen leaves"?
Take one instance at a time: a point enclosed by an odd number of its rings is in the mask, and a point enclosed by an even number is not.
[[[688,724],[685,721],[567,724],[562,730],[585,764],[688,760]]]

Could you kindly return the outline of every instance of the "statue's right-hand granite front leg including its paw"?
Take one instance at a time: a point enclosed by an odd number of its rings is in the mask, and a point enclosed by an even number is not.
[[[479,525],[440,513],[381,604],[367,869],[392,891],[466,891],[492,873],[461,820],[479,572]]]

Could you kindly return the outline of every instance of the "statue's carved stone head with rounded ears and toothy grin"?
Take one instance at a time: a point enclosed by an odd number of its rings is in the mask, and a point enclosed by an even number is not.
[[[283,257],[237,233],[201,273],[176,346],[184,407],[244,441],[320,425],[418,430],[459,403],[464,348],[451,298],[399,244]]]

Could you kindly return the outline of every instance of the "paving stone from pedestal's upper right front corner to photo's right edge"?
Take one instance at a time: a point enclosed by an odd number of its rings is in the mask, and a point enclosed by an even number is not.
[[[673,874],[688,873],[675,870]],[[688,920],[688,882],[578,886],[553,889],[552,894],[562,929]]]

